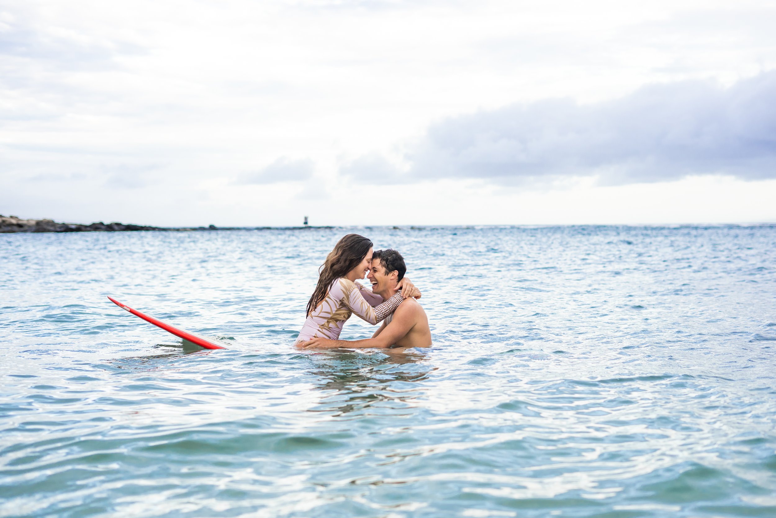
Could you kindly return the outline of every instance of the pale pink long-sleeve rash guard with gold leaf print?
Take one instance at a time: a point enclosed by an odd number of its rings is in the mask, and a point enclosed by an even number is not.
[[[369,303],[365,297],[368,297]],[[317,305],[317,308],[314,308],[310,315],[307,315],[307,320],[304,321],[296,342],[307,341],[316,336],[336,340],[339,338],[345,321],[353,314],[375,325],[382,322],[386,316],[391,315],[403,300],[401,292],[399,292],[372,308],[370,303],[377,304],[379,301],[383,301],[383,297],[373,294],[352,280],[335,279],[329,285],[329,291],[324,300]]]

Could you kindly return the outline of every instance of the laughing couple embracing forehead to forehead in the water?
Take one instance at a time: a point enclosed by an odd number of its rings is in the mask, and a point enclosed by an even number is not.
[[[307,302],[307,320],[296,339],[305,349],[334,347],[428,347],[431,330],[415,299],[421,292],[404,277],[404,258],[393,249],[373,250],[372,242],[348,234],[334,246],[320,267],[318,284]],[[372,290],[357,282],[364,274]],[[340,340],[350,315],[376,325],[372,338]]]

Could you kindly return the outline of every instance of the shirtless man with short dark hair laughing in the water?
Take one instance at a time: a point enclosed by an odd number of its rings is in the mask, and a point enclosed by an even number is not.
[[[377,250],[372,254],[372,263],[366,278],[372,283],[372,293],[388,300],[397,293],[397,284],[407,266],[404,257],[393,249]],[[348,349],[366,347],[428,347],[431,346],[431,329],[428,329],[428,318],[421,304],[409,297],[399,304],[393,315],[383,320],[383,324],[365,340],[331,340],[314,338],[303,342],[305,349],[325,349],[346,347]]]

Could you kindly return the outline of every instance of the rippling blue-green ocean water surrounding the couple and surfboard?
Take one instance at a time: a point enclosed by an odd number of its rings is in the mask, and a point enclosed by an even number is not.
[[[292,348],[349,231],[404,253],[433,347]],[[774,251],[774,226],[0,235],[0,516],[776,516]]]

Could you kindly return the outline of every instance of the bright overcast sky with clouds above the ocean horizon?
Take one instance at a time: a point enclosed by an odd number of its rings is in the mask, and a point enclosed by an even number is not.
[[[776,222],[773,2],[0,0],[0,214]]]

